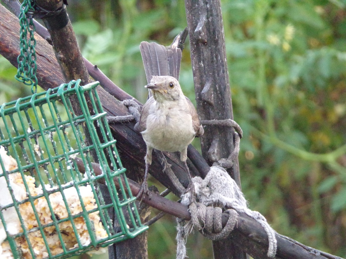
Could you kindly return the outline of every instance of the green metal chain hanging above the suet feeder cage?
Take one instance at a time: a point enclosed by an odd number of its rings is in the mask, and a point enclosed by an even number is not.
[[[20,24],[20,54],[17,58],[18,71],[15,78],[26,84],[31,85],[31,92],[37,91],[36,77],[36,40],[34,38],[35,25],[33,22],[34,1],[24,0],[19,14]],[[30,27],[31,26],[31,27]],[[28,38],[28,32],[30,37]]]

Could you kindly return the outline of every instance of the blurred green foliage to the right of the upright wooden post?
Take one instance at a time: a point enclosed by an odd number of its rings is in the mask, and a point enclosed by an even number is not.
[[[338,240],[346,238],[344,7],[259,0],[225,1],[222,10],[234,117],[246,126],[239,160],[250,207],[278,232],[340,256],[344,241]],[[335,224],[337,237],[330,230]]]

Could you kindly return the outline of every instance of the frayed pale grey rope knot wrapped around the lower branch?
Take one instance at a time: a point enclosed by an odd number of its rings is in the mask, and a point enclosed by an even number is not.
[[[189,205],[191,220],[186,224],[178,223],[177,259],[186,257],[185,239],[193,229],[211,240],[226,238],[237,223],[238,212],[247,214],[261,224],[269,241],[267,256],[275,256],[277,245],[274,230],[262,214],[247,208],[244,194],[223,167],[211,166],[206,178],[195,177],[192,182],[194,190],[181,196],[182,202]],[[195,192],[195,196],[192,192]],[[223,212],[228,213],[224,228],[221,223]]]

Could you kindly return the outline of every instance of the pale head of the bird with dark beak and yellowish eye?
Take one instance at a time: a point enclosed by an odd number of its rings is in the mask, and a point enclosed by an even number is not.
[[[172,76],[153,76],[150,84],[145,86],[150,89],[157,102],[163,100],[177,100],[183,96],[178,80]]]

